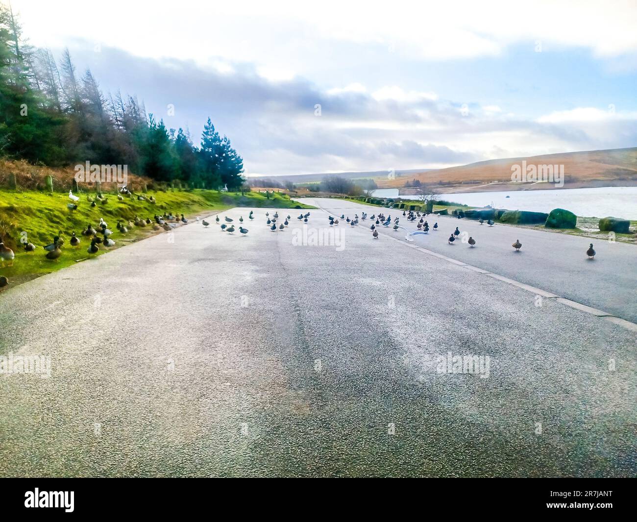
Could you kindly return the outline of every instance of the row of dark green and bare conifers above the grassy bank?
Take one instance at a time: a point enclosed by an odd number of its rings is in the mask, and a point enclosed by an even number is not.
[[[22,38],[0,4],[0,155],[32,164],[127,164],[132,173],[193,187],[238,189],[243,159],[210,118],[199,145],[168,129],[136,96],[104,94],[90,69],[80,75],[68,49],[56,60]]]

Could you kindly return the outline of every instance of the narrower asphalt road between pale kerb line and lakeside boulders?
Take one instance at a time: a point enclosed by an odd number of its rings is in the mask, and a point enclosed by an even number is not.
[[[358,205],[336,199],[308,199],[308,204],[326,208],[333,215],[354,215],[366,210],[369,215],[382,210],[385,215],[399,217],[399,224],[409,231],[417,230],[418,219],[406,221],[403,211]],[[310,203],[310,201],[312,203]],[[414,237],[414,243],[463,263],[515,279],[550,293],[598,308],[627,321],[637,323],[637,247],[627,243],[591,240],[581,236],[548,233],[529,228],[496,224],[489,227],[471,219],[426,217],[429,226],[438,221],[440,231]],[[369,225],[368,225],[369,227]],[[458,227],[476,240],[476,246],[447,238]],[[404,238],[404,231],[380,228],[380,232]],[[461,239],[462,236],[459,236]],[[519,239],[522,249],[516,252],[512,243]],[[586,250],[594,243],[596,256],[589,259]]]

